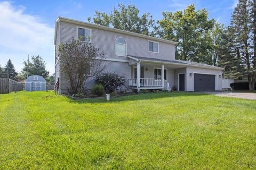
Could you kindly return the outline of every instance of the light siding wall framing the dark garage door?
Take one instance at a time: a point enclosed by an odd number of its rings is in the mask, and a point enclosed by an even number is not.
[[[193,76],[189,74],[193,73]],[[216,74],[216,84],[217,90],[222,90],[222,79],[219,78],[219,75],[222,75],[221,70],[214,70],[214,69],[203,69],[198,67],[187,67],[187,91],[194,91],[194,73],[201,73],[201,74]]]

